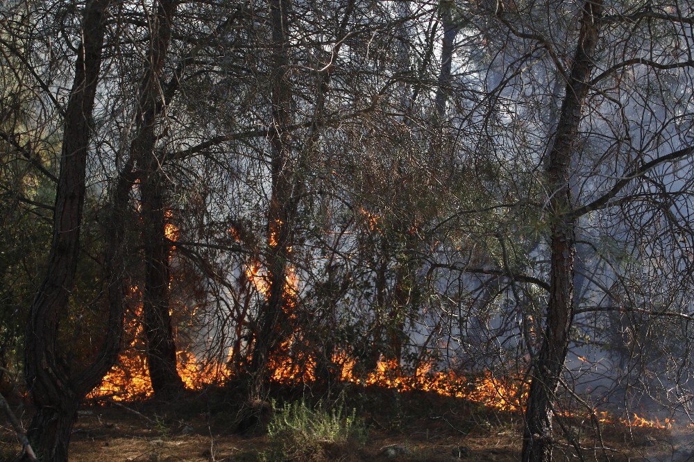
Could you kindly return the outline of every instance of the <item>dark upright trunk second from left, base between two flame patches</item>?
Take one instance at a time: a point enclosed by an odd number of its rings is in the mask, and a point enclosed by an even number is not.
[[[160,78],[171,42],[175,0],[160,0],[155,15],[149,62],[139,97],[139,130],[131,146],[131,157],[139,168],[142,200],[145,282],[143,292],[144,332],[147,366],[155,395],[166,397],[183,390],[176,370],[176,343],[169,314],[169,253],[166,209],[161,166],[156,155],[155,125],[164,108]]]

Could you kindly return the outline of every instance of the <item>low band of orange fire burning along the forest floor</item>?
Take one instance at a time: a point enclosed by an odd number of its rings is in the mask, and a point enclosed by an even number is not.
[[[142,325],[139,323],[139,311],[133,312],[133,317],[127,325],[127,347],[121,353],[117,366],[113,368],[98,388],[90,394],[93,400],[108,398],[118,402],[146,400],[153,395],[149,372],[146,364],[146,354]],[[299,341],[300,336],[293,336]],[[272,370],[271,381],[278,386],[315,385],[316,359],[310,355],[291,354],[291,343],[280,352],[282,357],[273,357],[269,361]],[[231,358],[223,363],[201,361],[195,354],[186,350],[178,351],[178,374],[190,391],[201,390],[209,386],[217,386],[235,379]],[[355,368],[356,360],[347,352],[333,355],[332,364],[337,372],[337,379],[343,384],[353,384],[366,388],[381,388],[399,393],[430,393],[441,397],[452,397],[479,404],[490,411],[501,411],[518,415],[523,412],[527,399],[527,380],[523,375],[512,377],[495,377],[487,371],[477,376],[462,376],[448,370],[433,370],[430,363],[407,370],[398,366],[392,360],[382,359],[375,370],[369,373],[358,373]],[[615,416],[608,411],[598,409],[572,409],[558,412],[563,418],[583,418],[595,423],[627,427],[642,427],[652,429],[669,429],[674,420],[664,418],[648,419],[636,413],[625,416]]]

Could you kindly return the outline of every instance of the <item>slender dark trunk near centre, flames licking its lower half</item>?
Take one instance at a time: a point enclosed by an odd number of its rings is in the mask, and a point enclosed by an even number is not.
[[[291,82],[289,81],[287,0],[270,0],[270,22],[274,48],[271,74],[272,121],[270,130],[272,193],[268,213],[267,271],[269,294],[260,315],[260,330],[255,339],[251,372],[257,382],[265,380],[266,365],[288,330],[287,269],[294,241],[294,221],[298,207],[298,183],[291,155]]]

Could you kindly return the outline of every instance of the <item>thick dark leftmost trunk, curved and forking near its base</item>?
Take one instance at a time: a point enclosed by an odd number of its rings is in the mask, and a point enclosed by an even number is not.
[[[88,1],[83,12],[82,41],[65,110],[51,254],[26,327],[26,384],[37,408],[27,436],[37,456],[44,461],[67,461],[78,406],[115,361],[122,332],[122,316],[110,310],[104,348],[96,361],[78,375],[72,373],[60,354],[58,324],[69,304],[79,257],[91,116],[109,3],[109,0]]]

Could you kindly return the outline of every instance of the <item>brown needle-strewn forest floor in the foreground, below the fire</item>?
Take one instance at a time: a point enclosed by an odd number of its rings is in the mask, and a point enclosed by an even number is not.
[[[238,409],[223,393],[187,396],[175,404],[154,401],[85,406],[74,427],[71,461],[257,461],[268,454],[266,435],[234,433]],[[516,461],[521,447],[520,416],[494,413],[463,400],[431,393],[366,390],[346,401],[369,427],[362,447],[333,448],[317,460],[344,461]],[[123,407],[124,406],[124,407]],[[694,429],[600,425],[564,419],[583,449],[584,460],[693,461]],[[591,447],[605,449],[591,450]],[[4,429],[0,459],[17,449]],[[349,450],[349,454],[347,454]],[[3,455],[4,454],[4,455]],[[557,460],[580,460],[559,438]],[[9,460],[9,459],[7,459]]]

